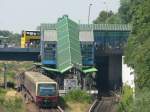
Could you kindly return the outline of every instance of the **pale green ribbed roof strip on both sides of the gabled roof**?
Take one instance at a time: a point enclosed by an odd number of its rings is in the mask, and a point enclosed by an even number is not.
[[[80,24],[80,31],[102,30],[102,31],[131,31],[132,26],[129,24]],[[56,24],[41,24],[41,29],[56,30]]]

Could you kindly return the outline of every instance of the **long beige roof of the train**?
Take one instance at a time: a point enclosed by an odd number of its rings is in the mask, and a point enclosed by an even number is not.
[[[37,82],[53,82],[56,83],[53,79],[43,75],[42,73],[39,72],[25,72],[25,77],[28,77],[30,80],[32,80],[33,82],[37,83]]]

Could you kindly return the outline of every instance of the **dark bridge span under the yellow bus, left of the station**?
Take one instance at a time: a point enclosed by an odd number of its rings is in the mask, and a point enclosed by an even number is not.
[[[39,48],[0,48],[0,60],[4,61],[38,61]]]

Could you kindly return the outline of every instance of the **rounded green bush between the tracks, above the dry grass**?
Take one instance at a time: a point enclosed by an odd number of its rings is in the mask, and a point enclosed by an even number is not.
[[[66,96],[64,96],[65,101],[71,102],[92,102],[92,97],[86,91],[83,90],[70,90]]]

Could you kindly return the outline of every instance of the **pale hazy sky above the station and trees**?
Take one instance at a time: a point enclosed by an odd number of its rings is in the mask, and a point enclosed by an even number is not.
[[[0,30],[20,33],[35,30],[41,23],[56,23],[64,14],[81,24],[90,23],[102,10],[117,12],[120,0],[0,0]]]

